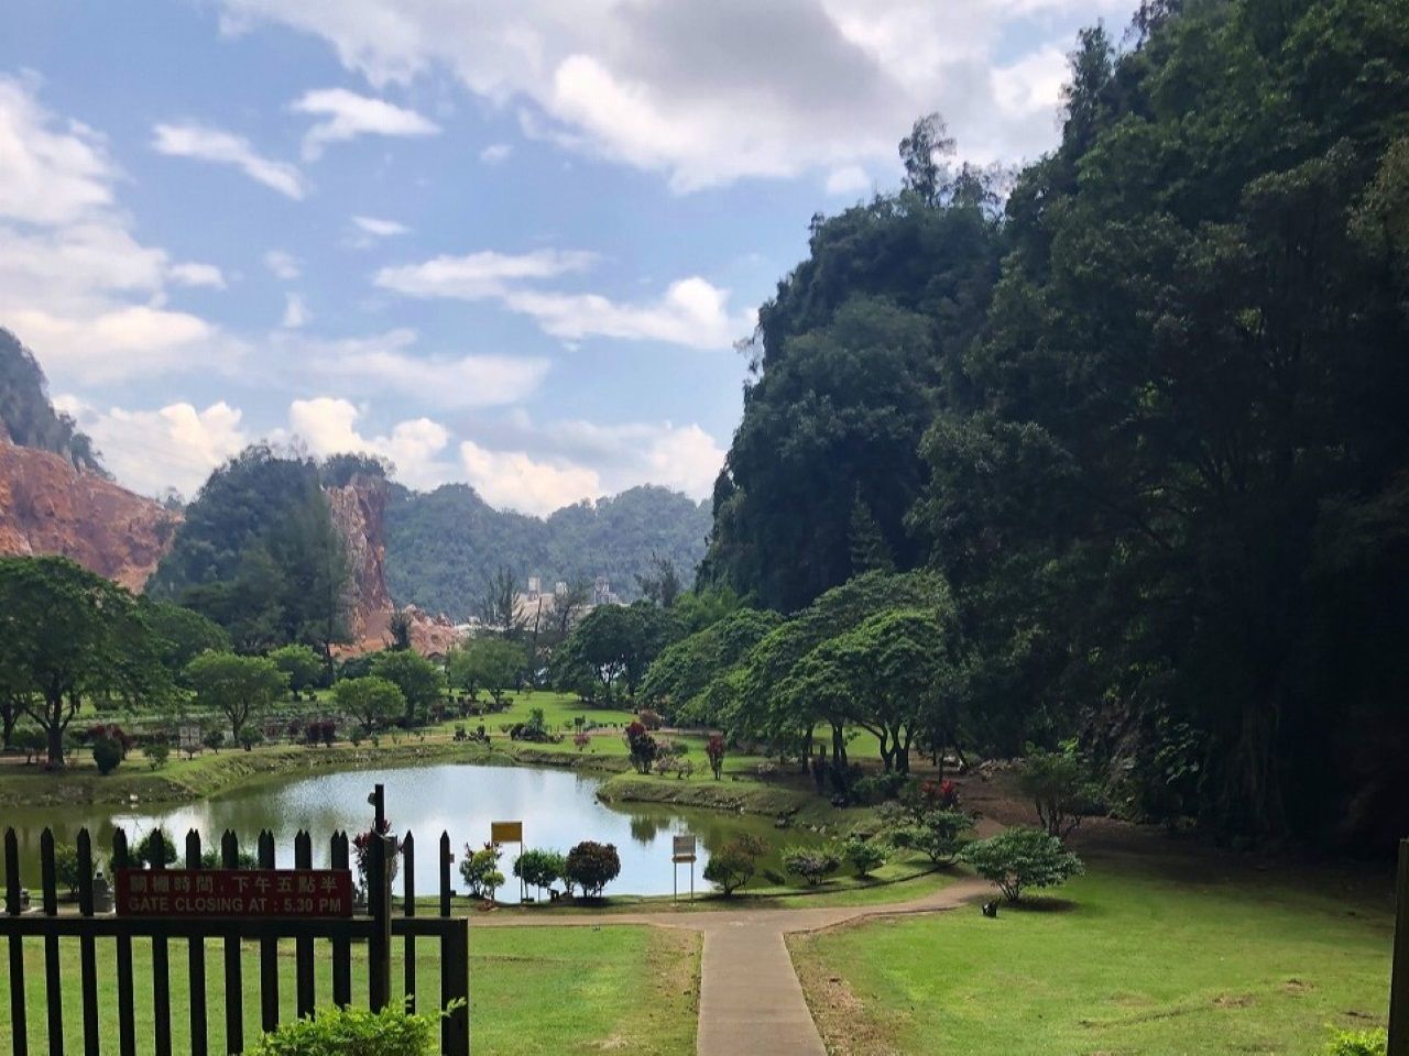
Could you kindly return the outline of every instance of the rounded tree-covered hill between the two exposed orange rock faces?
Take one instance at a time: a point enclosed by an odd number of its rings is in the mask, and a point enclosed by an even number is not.
[[[235,648],[348,639],[347,552],[317,463],[254,445],[211,473],[147,586],[220,624]]]

